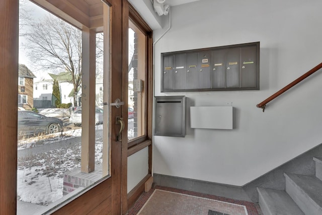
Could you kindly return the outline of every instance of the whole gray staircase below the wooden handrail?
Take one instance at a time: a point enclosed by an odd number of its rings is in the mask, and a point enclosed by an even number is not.
[[[313,161],[315,175],[284,173],[285,191],[257,187],[264,215],[322,214],[322,158]]]

